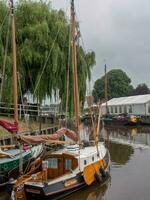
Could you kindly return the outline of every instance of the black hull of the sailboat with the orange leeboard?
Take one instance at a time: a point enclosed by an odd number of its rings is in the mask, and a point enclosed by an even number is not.
[[[97,182],[99,184],[104,183],[110,177],[110,155],[109,152],[105,156],[106,168],[105,168],[105,176],[102,176],[102,179]],[[94,182],[96,182],[96,180]],[[93,183],[94,183],[93,182]],[[93,184],[92,183],[92,184]],[[27,200],[35,199],[51,199],[56,200],[62,197],[68,196],[69,194],[80,190],[84,187],[88,186],[84,180],[83,172],[78,173],[76,176],[59,181],[57,183],[50,184],[50,182],[43,183],[43,185],[38,186],[38,184],[25,184],[24,191]]]

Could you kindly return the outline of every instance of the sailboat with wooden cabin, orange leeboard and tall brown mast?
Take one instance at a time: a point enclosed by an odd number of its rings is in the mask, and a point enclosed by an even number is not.
[[[56,141],[65,146],[52,152],[48,158],[42,160],[42,169],[32,175],[20,177],[13,187],[12,196],[18,200],[24,199],[60,199],[94,182],[102,183],[109,177],[110,156],[103,142],[99,142],[95,134],[95,141],[84,143],[79,134],[79,93],[75,43],[75,9],[71,0],[72,25],[72,65],[73,65],[73,93],[75,111],[75,131],[62,128],[58,132],[68,133],[72,140]],[[99,115],[100,116],[100,115]],[[100,119],[99,119],[100,120]],[[99,126],[97,127],[99,130]],[[58,138],[58,132],[54,138]],[[26,143],[52,142],[50,136],[21,136]]]

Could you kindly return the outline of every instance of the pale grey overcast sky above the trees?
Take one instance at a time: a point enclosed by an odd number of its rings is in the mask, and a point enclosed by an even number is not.
[[[70,0],[52,0],[52,7],[69,11]],[[150,87],[150,1],[75,0],[86,50],[96,53],[93,82],[108,70],[120,68],[132,84]]]

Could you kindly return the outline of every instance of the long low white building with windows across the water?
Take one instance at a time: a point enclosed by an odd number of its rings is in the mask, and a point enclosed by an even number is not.
[[[107,102],[109,113],[118,115],[150,115],[150,94],[113,98]],[[106,114],[106,103],[102,104],[102,114]]]

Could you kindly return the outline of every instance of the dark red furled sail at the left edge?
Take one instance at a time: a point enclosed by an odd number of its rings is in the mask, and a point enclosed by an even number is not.
[[[18,132],[18,123],[17,122],[11,123],[11,122],[7,122],[7,121],[4,121],[4,120],[0,120],[0,126],[5,128],[10,133],[17,133]]]

